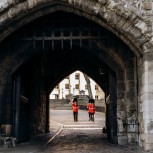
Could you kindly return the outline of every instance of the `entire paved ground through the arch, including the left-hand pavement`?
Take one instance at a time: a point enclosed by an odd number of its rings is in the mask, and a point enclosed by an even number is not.
[[[102,133],[105,117],[95,114],[88,121],[88,112],[79,111],[78,122],[71,110],[50,111],[51,133],[40,135],[13,148],[0,148],[0,153],[146,153],[137,145],[118,146],[107,141]]]

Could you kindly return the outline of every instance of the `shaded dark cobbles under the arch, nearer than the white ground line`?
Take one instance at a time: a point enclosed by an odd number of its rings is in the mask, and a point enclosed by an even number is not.
[[[119,147],[107,142],[101,130],[64,129],[39,153],[143,153],[137,146]]]

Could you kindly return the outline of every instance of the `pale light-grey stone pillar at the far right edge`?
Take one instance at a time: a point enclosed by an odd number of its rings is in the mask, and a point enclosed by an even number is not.
[[[139,60],[139,78],[140,145],[153,150],[153,53]]]

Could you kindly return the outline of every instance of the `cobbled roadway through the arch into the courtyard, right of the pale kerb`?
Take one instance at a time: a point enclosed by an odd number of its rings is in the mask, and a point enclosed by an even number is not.
[[[52,111],[51,120],[63,124],[61,132],[38,153],[144,153],[136,145],[118,146],[107,141],[102,133],[105,116],[96,113],[95,122],[88,121],[88,113],[79,111],[79,121],[73,122],[72,113]]]

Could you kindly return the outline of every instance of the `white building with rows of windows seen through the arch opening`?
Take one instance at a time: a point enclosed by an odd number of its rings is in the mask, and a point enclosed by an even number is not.
[[[90,85],[93,98],[96,100],[104,99],[104,92],[91,78]],[[75,71],[62,80],[51,92],[50,99],[69,99],[70,95],[89,95],[86,80],[80,71]]]

